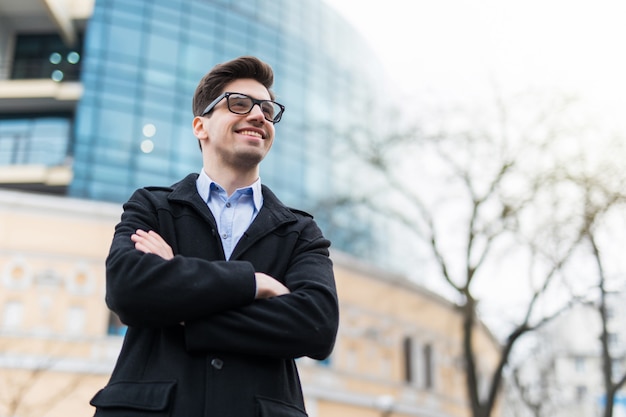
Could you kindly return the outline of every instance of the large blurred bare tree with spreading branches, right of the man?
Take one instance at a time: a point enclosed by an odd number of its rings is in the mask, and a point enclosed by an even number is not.
[[[339,200],[393,219],[418,237],[414,257],[431,260],[429,272],[458,304],[473,417],[492,415],[522,336],[570,305],[556,289],[587,236],[572,216],[569,184],[553,181],[563,156],[559,144],[577,134],[568,125],[570,100],[539,106],[536,97],[516,97],[515,106],[498,98],[491,112],[461,109],[405,129],[389,118],[392,126],[381,121],[378,132],[359,121],[340,135],[347,147],[338,156],[354,157],[354,177],[366,181],[360,188],[355,179]],[[354,197],[359,189],[363,193]],[[514,308],[500,306],[498,315],[508,322],[499,326],[500,355],[486,375],[474,339],[490,298],[513,300]]]

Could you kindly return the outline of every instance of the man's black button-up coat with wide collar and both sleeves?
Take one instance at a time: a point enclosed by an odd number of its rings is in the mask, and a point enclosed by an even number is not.
[[[263,207],[226,261],[196,178],[137,190],[124,205],[106,302],[128,330],[91,401],[96,416],[306,416],[294,359],[327,357],[339,321],[330,242],[264,186]],[[137,229],[159,233],[174,258],[134,249]],[[291,293],[255,300],[255,271]]]

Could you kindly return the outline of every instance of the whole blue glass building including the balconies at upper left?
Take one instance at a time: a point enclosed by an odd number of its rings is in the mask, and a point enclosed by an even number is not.
[[[3,19],[2,8],[11,7],[14,15]],[[62,15],[48,31],[11,28],[19,7],[0,7],[0,84],[47,84],[38,98],[0,92],[4,186],[121,203],[136,188],[198,172],[195,87],[215,64],[255,55],[274,68],[277,101],[286,106],[261,164],[263,182],[286,204],[313,210],[336,248],[355,252],[354,231],[361,248],[372,248],[369,225],[347,216],[330,227],[315,209],[350,186],[350,172],[330,157],[337,132],[366,117],[363,103],[383,76],[368,45],[323,1],[96,0],[70,22],[73,32],[58,29],[67,27]],[[35,166],[47,176],[2,175]],[[65,170],[64,181],[50,179],[59,177],[53,168]]]

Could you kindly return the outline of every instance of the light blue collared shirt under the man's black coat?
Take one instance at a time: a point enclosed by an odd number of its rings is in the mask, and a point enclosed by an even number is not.
[[[238,188],[229,196],[224,187],[201,170],[196,180],[196,188],[215,217],[224,255],[226,259],[230,259],[237,242],[263,206],[261,179],[248,187]]]

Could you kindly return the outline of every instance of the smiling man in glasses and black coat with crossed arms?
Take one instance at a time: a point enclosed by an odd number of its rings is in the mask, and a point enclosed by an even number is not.
[[[272,83],[254,57],[213,68],[193,100],[202,171],[124,205],[106,302],[128,331],[96,416],[306,416],[294,359],[330,354],[338,304],[329,241],[259,180]]]

